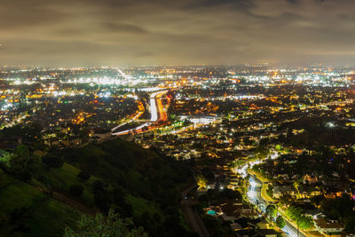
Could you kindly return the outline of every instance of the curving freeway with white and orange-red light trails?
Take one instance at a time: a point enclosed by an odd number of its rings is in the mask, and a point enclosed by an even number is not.
[[[166,114],[166,112],[164,110],[164,106],[162,104],[162,99],[161,99],[162,95],[166,94],[167,92],[168,91],[159,91],[159,92],[154,92],[151,94],[150,99],[149,99],[150,114],[151,114],[150,122],[146,122],[142,125],[139,125],[138,127],[134,128],[134,129],[114,132],[114,133],[112,133],[112,135],[121,136],[121,135],[129,134],[130,132],[142,133],[142,132],[145,132],[148,130],[153,130],[154,127],[151,127],[151,125],[153,122],[158,122],[158,111],[159,111],[160,120],[167,121],[168,115]],[[157,104],[158,104],[158,106],[157,106]],[[147,129],[145,129],[145,128],[147,128]]]

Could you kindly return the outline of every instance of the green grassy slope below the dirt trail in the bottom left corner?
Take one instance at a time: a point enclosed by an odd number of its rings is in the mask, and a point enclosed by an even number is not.
[[[4,173],[1,178],[0,213],[6,223],[0,227],[1,236],[62,236],[65,226],[75,228],[78,211]]]

